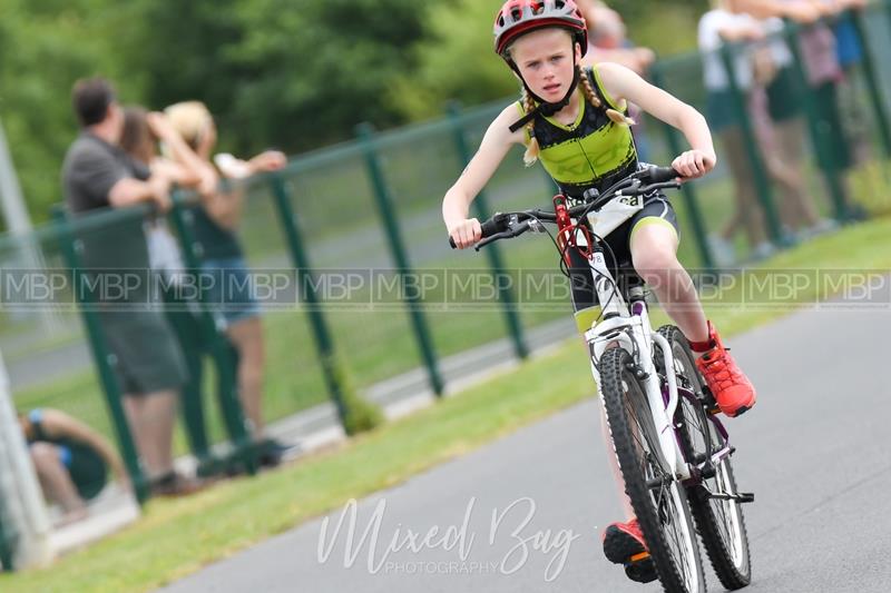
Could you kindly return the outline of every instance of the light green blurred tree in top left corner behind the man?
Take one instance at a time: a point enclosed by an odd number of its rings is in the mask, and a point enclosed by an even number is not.
[[[104,34],[117,23],[114,4],[0,0],[0,118],[37,220],[46,219],[49,206],[61,200],[59,170],[77,134],[69,98],[74,81],[105,73],[120,80],[118,89],[125,96],[138,87],[138,80],[116,76],[120,59]]]

